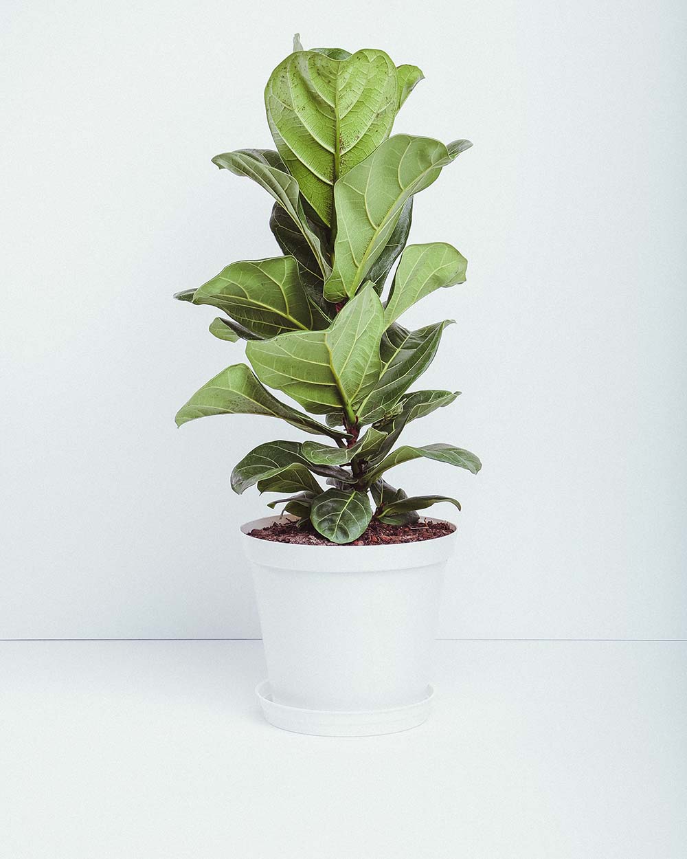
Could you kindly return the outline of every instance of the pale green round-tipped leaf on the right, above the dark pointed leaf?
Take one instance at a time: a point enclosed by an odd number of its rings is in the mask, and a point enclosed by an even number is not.
[[[466,268],[465,257],[446,242],[434,241],[429,245],[406,247],[386,302],[386,325],[391,325],[411,305],[435,289],[465,283]]]

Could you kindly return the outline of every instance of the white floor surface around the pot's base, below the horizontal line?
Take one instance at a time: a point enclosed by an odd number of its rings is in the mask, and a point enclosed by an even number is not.
[[[438,651],[430,722],[329,739],[258,641],[0,643],[0,857],[687,856],[687,643]]]

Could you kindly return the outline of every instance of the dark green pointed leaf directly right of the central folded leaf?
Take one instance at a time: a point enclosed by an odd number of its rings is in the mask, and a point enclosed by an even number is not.
[[[434,360],[441,333],[453,320],[408,331],[399,325],[386,330],[380,342],[381,371],[360,407],[360,423],[381,420]]]

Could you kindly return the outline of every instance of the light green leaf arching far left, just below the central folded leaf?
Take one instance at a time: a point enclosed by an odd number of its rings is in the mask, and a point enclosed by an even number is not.
[[[192,398],[182,405],[176,415],[177,426],[208,415],[266,415],[281,417],[299,430],[314,436],[345,438],[345,433],[319,423],[309,415],[280,403],[252,374],[246,364],[233,364],[206,382]]]

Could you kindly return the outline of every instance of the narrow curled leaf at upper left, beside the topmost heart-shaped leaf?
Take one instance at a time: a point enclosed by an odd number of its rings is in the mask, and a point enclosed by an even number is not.
[[[308,219],[298,182],[289,176],[277,152],[273,149],[238,149],[216,155],[212,162],[237,176],[248,176],[270,193],[307,241],[323,277],[328,276],[331,266],[326,259],[323,235]]]

